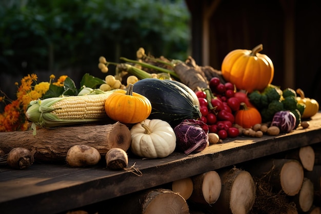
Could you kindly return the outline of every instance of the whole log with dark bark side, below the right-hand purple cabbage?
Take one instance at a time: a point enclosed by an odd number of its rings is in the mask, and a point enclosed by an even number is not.
[[[297,194],[304,179],[302,164],[293,159],[263,159],[245,166],[253,177],[271,183],[273,191],[283,190],[288,196]]]

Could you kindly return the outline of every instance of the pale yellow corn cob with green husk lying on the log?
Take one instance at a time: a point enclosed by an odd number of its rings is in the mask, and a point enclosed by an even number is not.
[[[32,101],[26,116],[47,128],[106,120],[105,101],[113,92]]]

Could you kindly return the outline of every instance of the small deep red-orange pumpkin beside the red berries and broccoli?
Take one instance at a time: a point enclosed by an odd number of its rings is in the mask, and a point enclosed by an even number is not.
[[[249,107],[241,103],[240,109],[235,112],[235,124],[243,128],[251,128],[255,124],[262,123],[262,116],[255,107]]]

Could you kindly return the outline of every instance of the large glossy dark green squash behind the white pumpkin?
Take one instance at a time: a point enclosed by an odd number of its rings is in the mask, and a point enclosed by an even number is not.
[[[146,96],[151,102],[149,119],[160,119],[174,127],[185,119],[202,116],[196,94],[180,84],[169,80],[144,79],[134,84],[133,91]]]

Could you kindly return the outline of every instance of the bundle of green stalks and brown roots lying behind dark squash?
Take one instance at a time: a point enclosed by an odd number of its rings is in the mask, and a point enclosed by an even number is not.
[[[98,67],[102,72],[106,72],[109,65],[116,65],[116,79],[121,80],[124,85],[126,85],[129,76],[136,76],[138,80],[147,78],[173,79],[196,91],[198,88],[208,88],[209,80],[214,76],[222,82],[224,81],[222,72],[210,66],[198,66],[190,56],[185,62],[168,60],[163,56],[156,58],[145,54],[144,48],[139,48],[136,56],[137,60],[121,57],[120,59],[125,63],[107,62],[105,57],[101,56]]]

